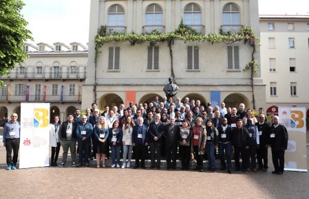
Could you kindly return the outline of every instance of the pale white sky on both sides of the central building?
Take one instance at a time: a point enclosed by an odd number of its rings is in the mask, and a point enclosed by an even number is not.
[[[86,45],[89,38],[90,0],[23,0],[22,14],[36,43]],[[257,1],[257,0],[251,0]],[[307,14],[309,0],[258,0],[259,14]]]

